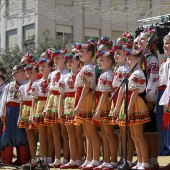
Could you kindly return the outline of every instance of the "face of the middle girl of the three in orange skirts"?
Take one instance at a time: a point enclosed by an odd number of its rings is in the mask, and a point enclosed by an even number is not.
[[[100,56],[98,60],[99,69],[106,71],[111,67],[111,60],[108,57]]]

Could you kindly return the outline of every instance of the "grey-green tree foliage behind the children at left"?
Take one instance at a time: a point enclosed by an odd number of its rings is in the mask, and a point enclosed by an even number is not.
[[[30,52],[35,59],[38,59],[48,48],[59,49],[64,47],[64,44],[67,41],[66,38],[63,38],[62,36],[53,38],[50,36],[49,30],[45,30],[42,36],[44,40],[41,42],[38,41],[38,43],[35,43],[35,36],[29,37],[28,40],[23,42],[22,49],[20,49],[17,44],[11,49],[1,49],[0,62],[7,69],[7,76],[11,74],[12,68],[19,64],[25,53]]]

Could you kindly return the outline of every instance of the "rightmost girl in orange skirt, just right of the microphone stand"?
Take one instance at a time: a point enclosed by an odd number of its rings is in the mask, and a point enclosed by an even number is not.
[[[126,49],[125,53],[127,55],[128,67],[129,69],[132,69],[141,55],[140,51],[131,51]],[[142,93],[146,89],[146,78],[140,68],[140,62],[129,76],[128,81],[128,125],[130,126],[131,135],[134,140],[138,156],[138,163],[132,169],[150,170],[148,147],[143,134],[143,124],[150,121],[150,115],[145,102],[139,96],[139,93]],[[123,118],[122,114],[124,114],[124,102],[122,103],[119,114],[119,123],[120,125],[124,126],[125,115],[124,119],[121,119]]]

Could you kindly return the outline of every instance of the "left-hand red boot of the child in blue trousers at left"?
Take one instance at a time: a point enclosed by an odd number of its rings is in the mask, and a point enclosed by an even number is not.
[[[12,165],[13,147],[5,147],[5,151],[2,151],[3,164]]]

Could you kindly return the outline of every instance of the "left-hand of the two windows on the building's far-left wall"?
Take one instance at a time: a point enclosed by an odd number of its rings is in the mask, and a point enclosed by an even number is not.
[[[18,42],[17,29],[6,32],[6,49],[15,47]]]

